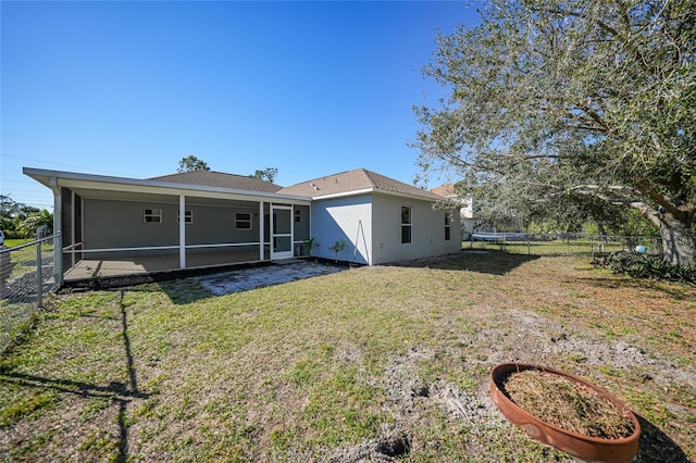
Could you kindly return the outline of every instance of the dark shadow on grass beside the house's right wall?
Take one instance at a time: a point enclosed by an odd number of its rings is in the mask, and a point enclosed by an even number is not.
[[[538,258],[539,255],[517,254],[496,250],[463,250],[456,254],[399,262],[396,265],[405,267],[427,267],[446,271],[467,271],[490,275],[505,275],[520,265],[535,261]]]

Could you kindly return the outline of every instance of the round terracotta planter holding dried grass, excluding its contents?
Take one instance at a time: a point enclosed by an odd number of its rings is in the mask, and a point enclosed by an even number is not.
[[[498,387],[498,384],[502,384],[508,375],[524,370],[540,370],[554,373],[595,390],[601,397],[612,402],[619,410],[622,410],[625,416],[631,418],[633,422],[633,434],[621,439],[589,437],[566,430],[527,413],[512,402]],[[627,463],[633,461],[638,453],[641,424],[636,416],[621,400],[576,376],[538,365],[502,363],[490,371],[490,397],[505,417],[508,418],[510,423],[524,429],[530,437],[586,462]]]

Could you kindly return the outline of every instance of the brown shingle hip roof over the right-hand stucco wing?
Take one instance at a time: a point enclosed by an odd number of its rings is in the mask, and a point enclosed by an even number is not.
[[[443,197],[427,190],[395,180],[394,178],[385,177],[384,175],[380,175],[364,168],[341,172],[339,174],[302,182],[301,184],[282,188],[277,192],[283,195],[322,198],[325,196],[350,193],[352,191],[362,190],[378,190],[435,201],[443,200]]]

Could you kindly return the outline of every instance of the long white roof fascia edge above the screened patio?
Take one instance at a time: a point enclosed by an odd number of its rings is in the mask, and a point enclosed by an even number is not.
[[[35,180],[49,186],[41,182],[40,177],[57,178],[58,185],[73,188],[85,188],[96,190],[114,190],[114,186],[119,186],[117,191],[142,192],[156,195],[189,195],[202,198],[220,198],[220,199],[245,199],[264,198],[269,200],[282,200],[288,202],[298,202],[309,204],[307,197],[281,195],[265,191],[249,191],[233,188],[211,187],[204,185],[187,185],[175,182],[161,182],[150,179],[138,179],[127,177],[112,177],[107,175],[80,174],[75,172],[47,171],[41,168],[24,167],[25,175]],[[38,177],[38,178],[37,178]],[[191,195],[198,193],[198,195]],[[232,197],[232,198],[231,198]]]

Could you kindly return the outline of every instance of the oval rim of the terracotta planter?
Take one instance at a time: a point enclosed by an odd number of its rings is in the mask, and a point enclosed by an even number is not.
[[[537,371],[542,371],[542,372],[548,372],[548,373],[552,373],[556,375],[559,375],[561,377],[566,377],[569,380],[576,383],[576,384],[581,384],[583,386],[589,387],[591,389],[593,389],[594,391],[596,391],[597,393],[599,393],[601,397],[604,397],[605,399],[609,400],[614,406],[619,408],[619,410],[627,417],[630,417],[630,420],[633,423],[633,433],[630,436],[626,437],[621,437],[618,439],[607,439],[607,438],[601,438],[601,437],[592,437],[592,436],[587,436],[584,434],[579,434],[579,433],[574,433],[572,430],[562,428],[560,426],[556,426],[551,423],[548,423],[544,420],[542,420],[540,417],[533,415],[532,413],[527,412],[526,410],[522,409],[521,406],[519,406],[517,403],[514,403],[514,401],[512,401],[508,396],[506,396],[506,393],[502,391],[502,389],[498,386],[498,384],[496,383],[496,378],[501,377],[502,375],[507,375],[507,374],[511,374],[511,373],[515,373],[515,372],[522,372],[525,370],[537,370]],[[579,376],[569,374],[569,373],[564,373],[561,371],[558,371],[556,368],[550,368],[544,365],[537,365],[537,364],[531,364],[531,363],[501,363],[496,365],[495,367],[493,367],[490,370],[489,373],[489,379],[490,379],[490,392],[494,402],[496,403],[496,405],[498,406],[498,409],[500,410],[500,412],[506,416],[506,418],[508,421],[510,421],[511,423],[513,423],[514,425],[520,426],[518,423],[515,423],[515,421],[513,421],[512,417],[508,416],[507,413],[505,413],[505,411],[502,410],[501,404],[498,403],[498,400],[496,400],[495,397],[495,391],[499,392],[500,396],[502,396],[502,400],[506,401],[505,405],[506,406],[510,406],[511,409],[514,410],[515,413],[521,414],[522,416],[524,416],[525,418],[527,418],[531,423],[539,423],[543,426],[549,428],[549,430],[552,430],[555,433],[561,434],[561,435],[566,435],[572,439],[576,439],[576,440],[581,440],[587,443],[593,443],[593,445],[601,445],[601,446],[630,446],[633,442],[636,443],[636,449],[637,449],[637,440],[641,436],[641,423],[638,422],[637,417],[635,416],[635,414],[629,409],[629,406],[625,404],[625,402],[623,402],[622,400],[620,400],[619,398],[614,397],[613,395],[609,393],[608,391],[601,389],[598,386],[593,385],[592,383],[587,381],[586,379],[583,379]],[[495,389],[495,391],[494,391]],[[539,440],[539,439],[537,439]],[[545,441],[545,440],[543,440]],[[546,442],[549,443],[549,442]],[[551,443],[551,446],[554,446]],[[556,446],[554,446],[556,447]],[[567,451],[567,450],[566,450]]]

